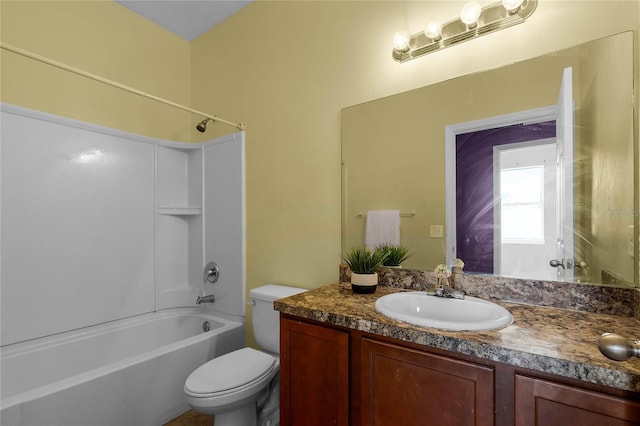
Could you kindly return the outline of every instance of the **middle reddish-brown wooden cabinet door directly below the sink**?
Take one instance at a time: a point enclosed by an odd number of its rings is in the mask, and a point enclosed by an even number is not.
[[[494,424],[492,368],[361,340],[362,425]]]

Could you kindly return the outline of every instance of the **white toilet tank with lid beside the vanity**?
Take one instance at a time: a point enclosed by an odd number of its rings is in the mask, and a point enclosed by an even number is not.
[[[261,349],[280,353],[280,313],[273,309],[274,300],[305,291],[303,288],[267,284],[249,292],[253,302],[253,336]]]

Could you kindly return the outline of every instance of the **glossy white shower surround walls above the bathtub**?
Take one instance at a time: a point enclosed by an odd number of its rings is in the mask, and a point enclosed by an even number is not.
[[[194,307],[205,293],[216,302],[198,310],[243,327],[243,132],[185,144],[3,104],[1,137],[3,357]],[[216,284],[204,284],[208,261]],[[70,362],[92,357],[80,350]],[[26,380],[29,363],[11,365]],[[5,398],[15,383],[0,368]],[[78,409],[69,403],[56,407]]]

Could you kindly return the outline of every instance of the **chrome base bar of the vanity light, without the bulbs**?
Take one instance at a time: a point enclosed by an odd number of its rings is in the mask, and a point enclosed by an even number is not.
[[[502,2],[490,4],[482,8],[480,17],[473,26],[455,19],[442,25],[439,38],[430,39],[423,31],[412,34],[409,36],[409,46],[406,49],[393,49],[393,59],[401,63],[406,62],[472,38],[521,24],[533,14],[537,6],[538,0],[525,0],[517,10],[508,11]]]

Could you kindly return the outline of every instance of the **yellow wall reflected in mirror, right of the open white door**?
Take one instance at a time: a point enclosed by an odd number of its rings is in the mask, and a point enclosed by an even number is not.
[[[633,90],[631,82],[625,83],[633,80],[628,71],[633,67],[632,58],[624,53],[629,47],[630,43],[590,43],[580,55],[580,87],[584,89],[582,99],[576,102],[575,132],[582,142],[581,154],[586,155],[574,172],[576,176],[584,172],[589,179],[576,188],[582,195],[576,199],[580,202],[576,218],[581,210],[585,213],[582,232],[576,234],[576,248],[583,249],[590,282],[634,282],[633,230],[637,219],[631,182],[637,144],[623,143],[633,140],[633,109],[620,107],[630,103]],[[581,241],[583,238],[586,241]],[[578,250],[576,256],[580,258]]]

